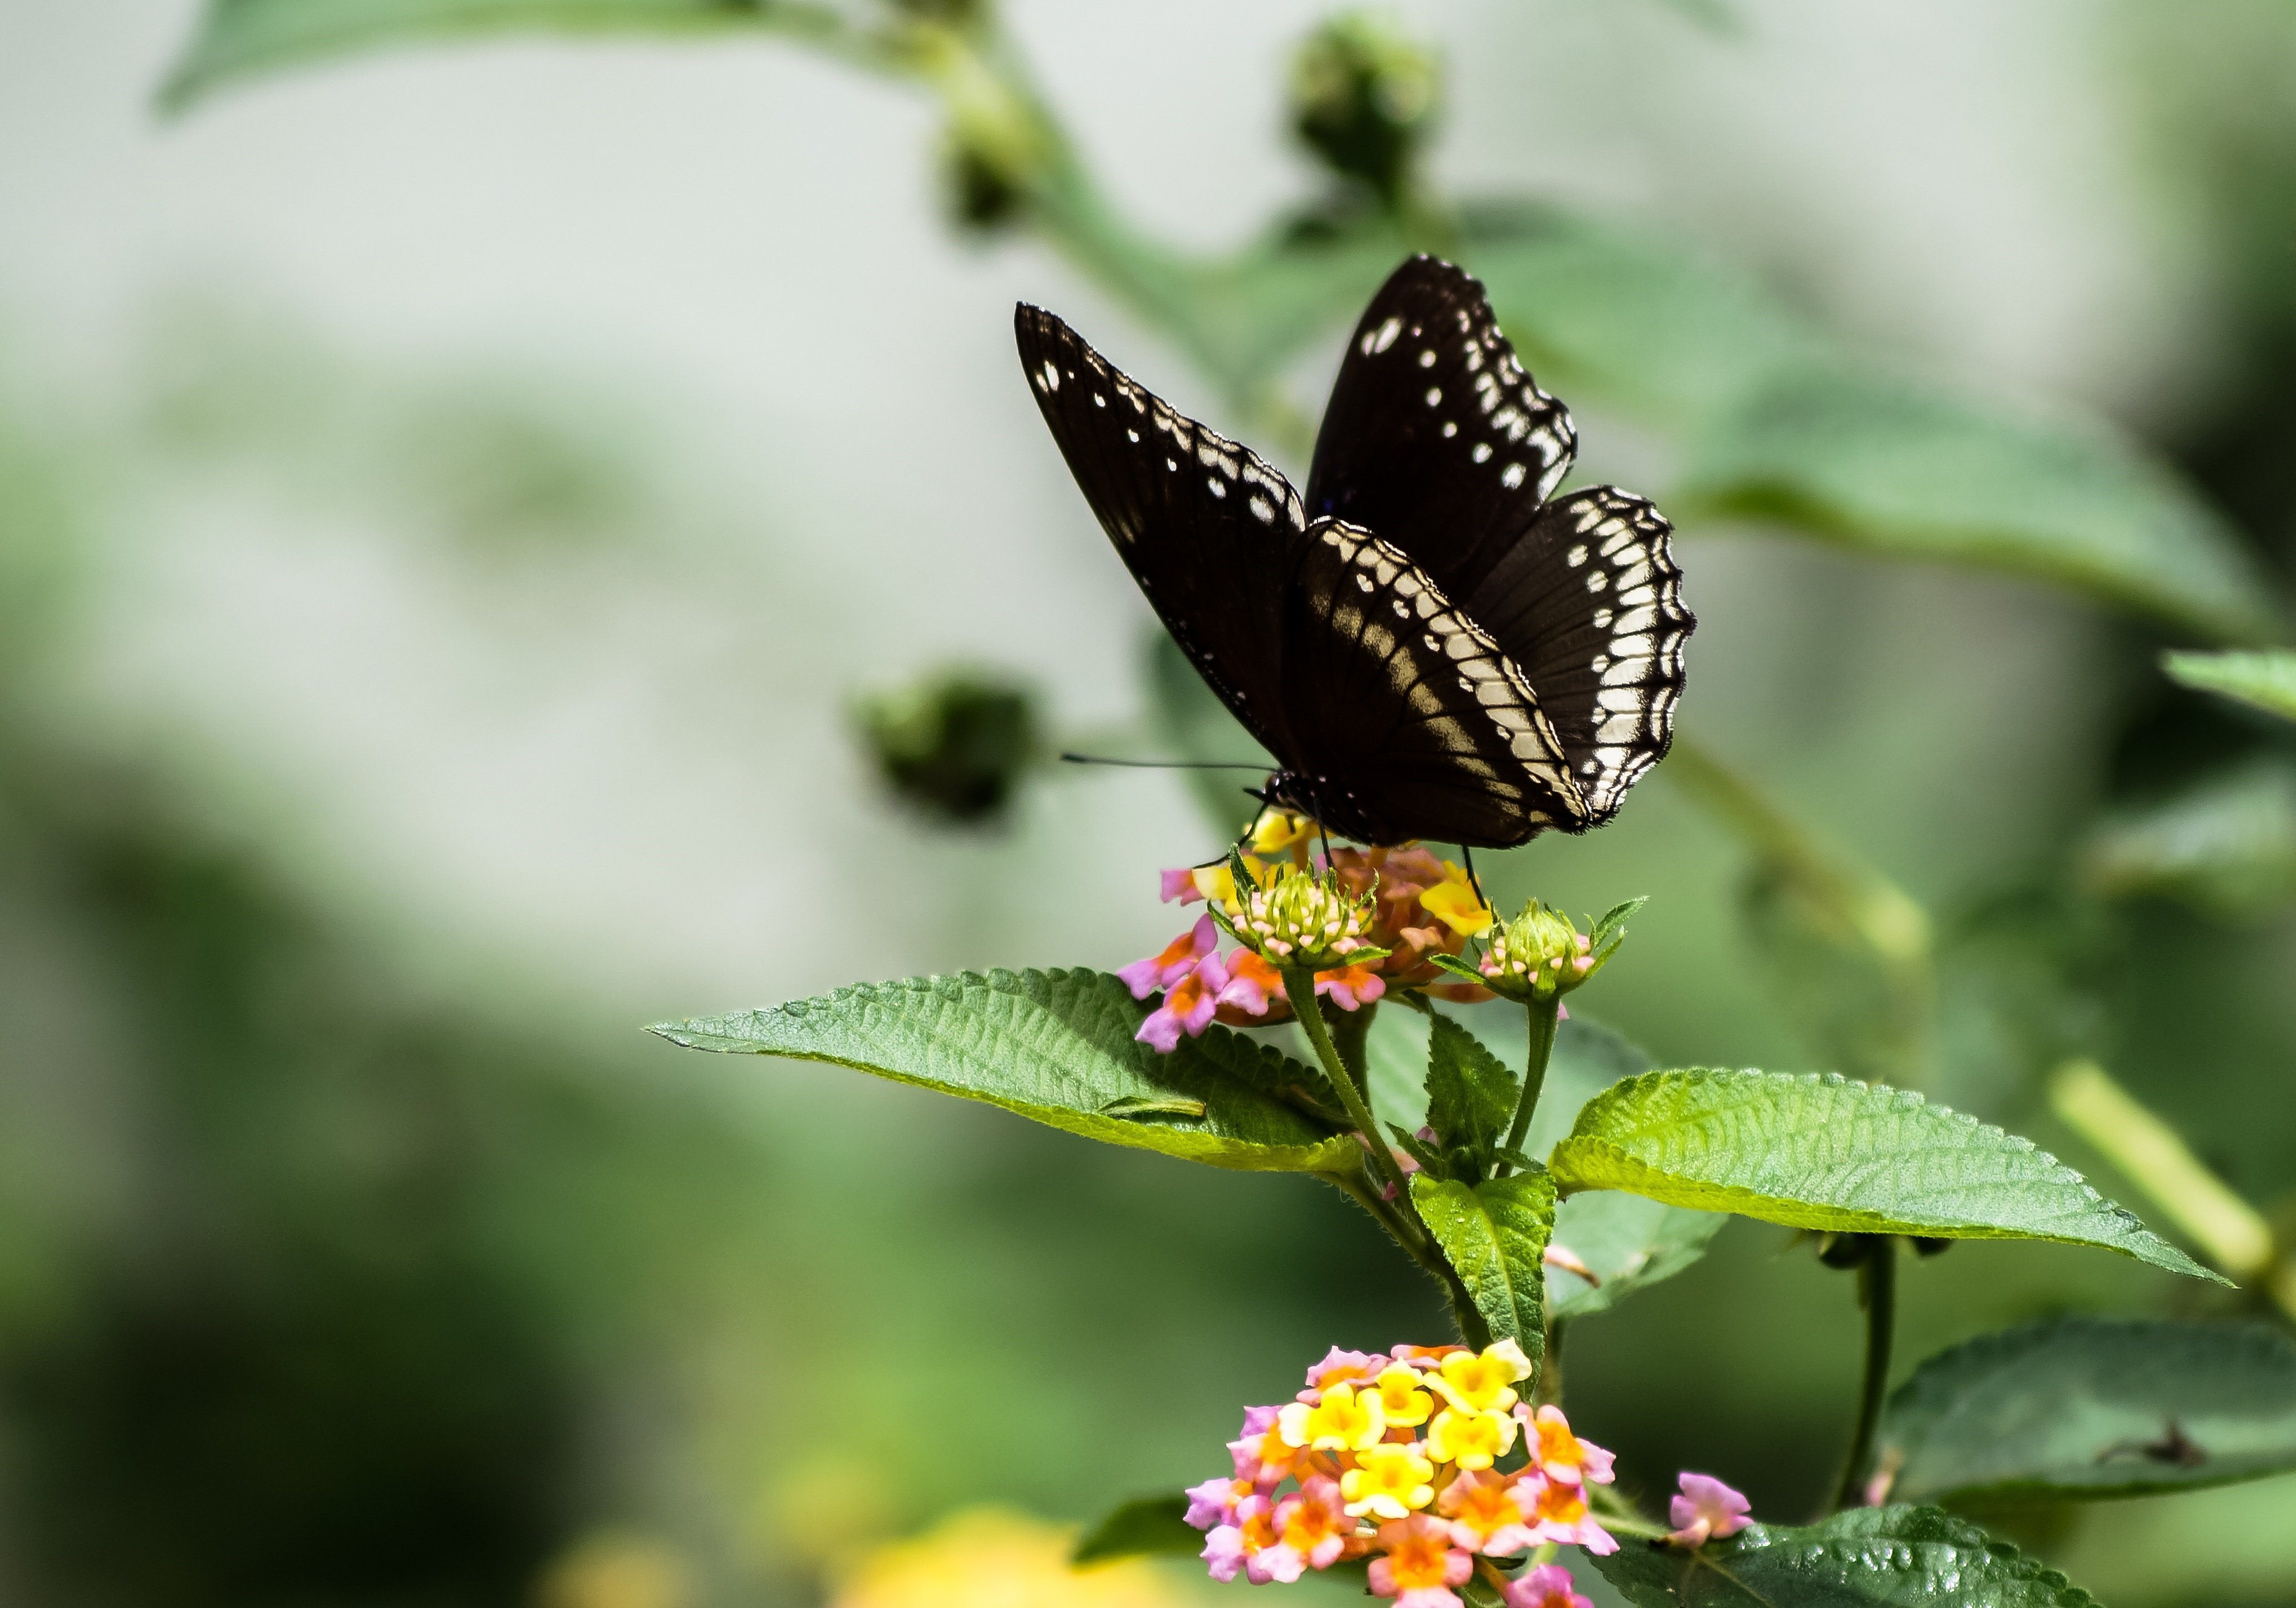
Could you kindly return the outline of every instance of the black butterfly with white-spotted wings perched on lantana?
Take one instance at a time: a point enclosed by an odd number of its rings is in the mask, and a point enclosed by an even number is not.
[[[1639,496],[1548,501],[1577,436],[1483,287],[1412,257],[1348,342],[1306,501],[1040,308],[1035,402],[1173,639],[1277,756],[1270,802],[1362,843],[1511,848],[1619,813],[1697,620]]]

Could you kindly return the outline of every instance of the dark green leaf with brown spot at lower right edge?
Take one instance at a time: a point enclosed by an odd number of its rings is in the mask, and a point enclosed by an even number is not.
[[[1890,1397],[1919,1502],[2188,1491],[2296,1470],[2296,1339],[2264,1323],[2048,1319],[1940,1351]]]

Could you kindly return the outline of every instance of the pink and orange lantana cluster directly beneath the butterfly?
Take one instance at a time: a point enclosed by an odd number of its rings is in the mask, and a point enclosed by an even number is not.
[[[1311,857],[1313,838],[1313,820],[1267,811],[1247,838],[1251,852],[1242,855],[1256,887],[1238,889],[1226,864],[1162,873],[1166,903],[1215,905],[1249,942],[1221,953],[1219,921],[1203,914],[1159,953],[1123,967],[1118,976],[1134,999],[1164,995],[1134,1034],[1141,1043],[1169,1054],[1182,1036],[1194,1038],[1212,1022],[1288,1022],[1290,999],[1277,967],[1302,956],[1302,937],[1322,946],[1304,958],[1332,963],[1316,969],[1316,992],[1341,1011],[1373,1004],[1391,988],[1460,1004],[1490,999],[1490,990],[1453,979],[1428,958],[1460,953],[1492,923],[1463,866],[1417,845]],[[1357,951],[1366,958],[1350,960]]]

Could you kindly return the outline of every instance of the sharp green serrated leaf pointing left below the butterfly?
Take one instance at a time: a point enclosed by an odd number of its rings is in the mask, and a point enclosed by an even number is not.
[[[1139,1025],[1141,1006],[1104,972],[964,972],[856,983],[652,1031],[691,1050],[836,1061],[1212,1167],[1359,1165],[1352,1137],[1302,1110],[1327,1098],[1311,1068],[1224,1027],[1157,1054],[1132,1038]],[[1173,1100],[1201,1103],[1203,1114],[1159,1119]],[[1137,1114],[1114,1116],[1111,1105]]]

